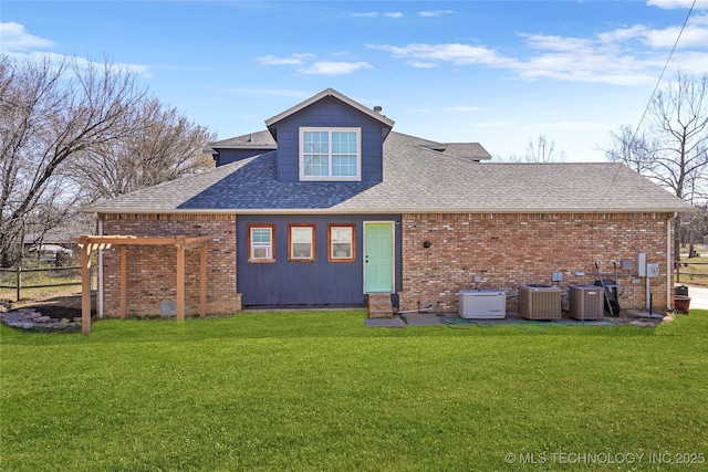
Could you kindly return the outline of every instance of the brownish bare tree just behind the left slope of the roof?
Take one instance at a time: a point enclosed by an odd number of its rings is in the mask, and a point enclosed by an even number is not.
[[[204,149],[216,136],[175,108],[148,98],[125,118],[128,136],[92,146],[70,166],[90,202],[214,168]]]

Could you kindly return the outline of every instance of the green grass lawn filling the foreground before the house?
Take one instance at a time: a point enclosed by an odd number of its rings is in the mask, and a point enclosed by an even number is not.
[[[364,317],[1,326],[0,469],[706,470],[708,312],[657,328]]]

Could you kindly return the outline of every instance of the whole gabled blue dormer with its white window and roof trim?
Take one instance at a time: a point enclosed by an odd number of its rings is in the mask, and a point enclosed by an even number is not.
[[[382,181],[394,122],[327,88],[266,120],[277,143],[278,180]]]

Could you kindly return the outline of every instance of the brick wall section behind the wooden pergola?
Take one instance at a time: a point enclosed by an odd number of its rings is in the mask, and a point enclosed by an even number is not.
[[[236,292],[236,216],[102,214],[103,233],[136,237],[209,235],[207,242],[207,313],[241,310]],[[185,252],[185,312],[199,310],[199,250]],[[104,316],[118,316],[121,250],[104,250]],[[127,247],[127,315],[163,313],[163,302],[177,294],[177,250],[174,247]]]

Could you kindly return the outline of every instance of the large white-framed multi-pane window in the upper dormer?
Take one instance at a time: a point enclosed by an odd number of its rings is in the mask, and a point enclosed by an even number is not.
[[[300,128],[301,180],[361,180],[358,128]]]

